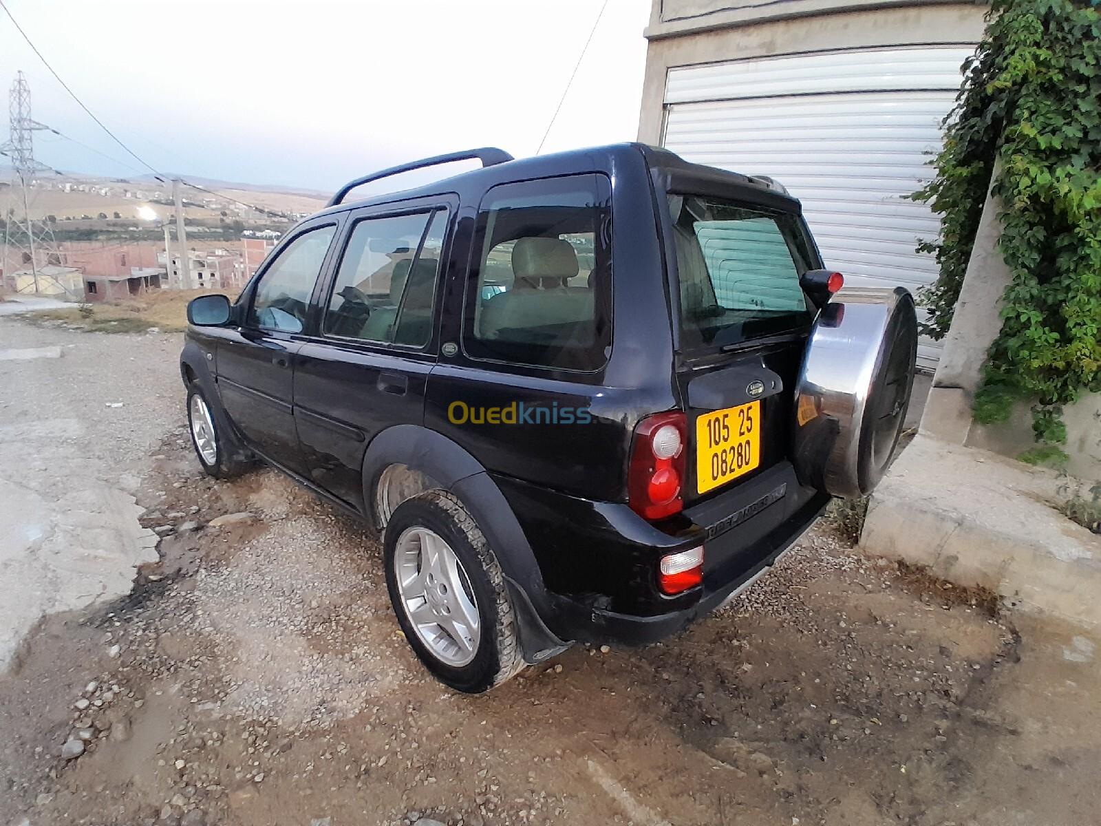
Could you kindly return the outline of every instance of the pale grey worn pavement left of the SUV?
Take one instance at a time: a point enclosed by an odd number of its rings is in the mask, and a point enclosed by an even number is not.
[[[156,559],[133,494],[178,416],[176,352],[0,318],[0,669],[43,613],[128,594]]]

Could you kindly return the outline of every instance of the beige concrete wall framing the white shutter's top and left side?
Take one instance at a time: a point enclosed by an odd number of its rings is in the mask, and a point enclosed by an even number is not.
[[[719,0],[654,0],[639,140],[662,142],[666,74],[674,66],[839,48],[975,43],[984,6],[782,0],[757,8]]]

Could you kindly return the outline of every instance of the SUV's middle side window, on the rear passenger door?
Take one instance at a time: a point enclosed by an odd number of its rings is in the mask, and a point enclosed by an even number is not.
[[[446,231],[446,209],[358,221],[329,296],[325,332],[426,345]]]

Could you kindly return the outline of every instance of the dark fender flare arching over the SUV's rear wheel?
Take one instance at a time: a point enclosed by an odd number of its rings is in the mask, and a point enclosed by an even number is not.
[[[374,490],[390,465],[405,465],[432,477],[470,512],[504,573],[520,624],[524,660],[537,663],[568,648],[547,628],[552,596],[543,583],[535,553],[512,507],[489,471],[465,447],[427,427],[399,424],[379,433],[363,455],[363,510],[378,525]]]

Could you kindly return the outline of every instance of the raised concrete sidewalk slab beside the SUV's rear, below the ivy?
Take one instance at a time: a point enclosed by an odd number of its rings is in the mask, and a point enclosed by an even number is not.
[[[860,545],[1101,628],[1101,536],[1057,510],[1060,483],[1054,471],[918,435],[872,494]]]

